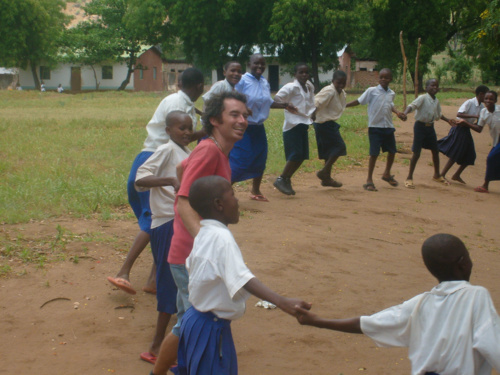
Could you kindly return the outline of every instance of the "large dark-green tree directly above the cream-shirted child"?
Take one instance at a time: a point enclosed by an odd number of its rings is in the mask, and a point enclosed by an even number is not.
[[[319,68],[337,66],[337,51],[362,32],[360,14],[351,0],[277,0],[269,31],[280,61],[310,63],[317,90]]]

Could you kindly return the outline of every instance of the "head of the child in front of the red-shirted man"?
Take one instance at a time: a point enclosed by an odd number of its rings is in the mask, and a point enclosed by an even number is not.
[[[220,176],[197,179],[189,189],[189,204],[202,217],[236,224],[240,219],[238,198],[231,183]]]

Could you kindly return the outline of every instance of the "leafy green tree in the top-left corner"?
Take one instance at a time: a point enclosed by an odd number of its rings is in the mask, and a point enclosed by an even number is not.
[[[0,64],[31,68],[40,89],[37,67],[52,65],[69,17],[62,0],[0,1]]]

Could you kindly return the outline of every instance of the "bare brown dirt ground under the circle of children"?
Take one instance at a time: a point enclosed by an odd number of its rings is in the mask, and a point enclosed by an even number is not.
[[[445,115],[454,116],[459,105],[444,107]],[[413,116],[398,124],[397,140],[408,150]],[[437,131],[446,135],[448,125],[439,122]],[[314,174],[298,174],[292,197],[276,191],[275,176],[267,176],[263,192],[270,202],[250,201],[239,188],[242,217],[231,230],[260,280],[312,302],[321,315],[338,318],[371,314],[431,289],[436,281],[422,263],[420,246],[432,234],[456,234],[474,261],[471,282],[488,288],[499,309],[500,183],[491,184],[490,194],[473,191],[483,181],[491,147],[487,131],[474,138],[476,165],[462,175],[467,185],[433,182],[430,152],[417,165],[415,190],[402,186],[409,153],[396,157],[397,188],[380,179],[384,163],[379,161],[378,192],[362,188],[366,167],[338,173],[344,183],[340,189],[321,187]],[[445,161],[442,157],[441,164]],[[36,239],[55,236],[58,224],[74,235],[102,233],[113,241],[71,242],[66,251],[73,258],[43,269],[12,263],[14,270],[25,271],[0,279],[0,374],[148,374],[152,365],[139,353],[148,349],[154,332],[156,300],[140,289],[150,253],[132,270],[137,295],[106,281],[132,243],[135,222],[60,218],[0,229],[11,237],[22,233]],[[362,335],[302,327],[281,311],[255,307],[256,302],[251,298],[245,316],[232,324],[243,375],[409,373],[404,348],[377,348]]]

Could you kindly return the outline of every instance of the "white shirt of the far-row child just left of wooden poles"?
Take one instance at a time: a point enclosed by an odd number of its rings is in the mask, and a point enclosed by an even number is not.
[[[390,88],[387,91],[381,85],[370,87],[358,98],[359,104],[368,104],[368,127],[394,128],[392,109],[396,93]]]

